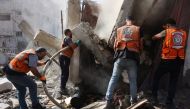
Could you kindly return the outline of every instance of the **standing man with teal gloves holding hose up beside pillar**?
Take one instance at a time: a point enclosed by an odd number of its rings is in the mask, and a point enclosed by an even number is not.
[[[74,49],[77,48],[77,46],[80,45],[81,41],[77,40],[76,42],[72,41],[72,32],[70,29],[64,30],[65,37],[62,42],[62,48],[69,46],[69,48],[65,51],[63,51],[59,56],[59,63],[61,67],[61,93],[63,95],[68,94],[66,89],[66,83],[69,78],[69,66],[70,66],[70,60],[74,53]]]

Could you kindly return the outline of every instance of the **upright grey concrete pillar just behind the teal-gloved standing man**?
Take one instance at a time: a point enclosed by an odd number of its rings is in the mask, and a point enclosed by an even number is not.
[[[67,2],[67,27],[69,29],[74,28],[80,23],[81,18],[81,7],[80,7],[80,0],[68,0]],[[80,34],[77,34],[80,36]],[[82,37],[82,36],[80,36]],[[77,40],[77,38],[74,36],[73,40]],[[79,84],[80,78],[79,78],[79,63],[80,63],[80,48],[77,47],[75,49],[75,52],[73,54],[73,57],[71,59],[70,63],[70,74],[69,74],[69,81],[72,84]]]

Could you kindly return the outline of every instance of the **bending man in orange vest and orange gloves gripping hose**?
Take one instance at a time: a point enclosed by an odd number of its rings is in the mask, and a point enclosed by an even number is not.
[[[37,66],[42,66],[46,64],[47,61],[38,61],[42,60],[46,56],[46,53],[46,49],[42,47],[39,47],[36,50],[29,49],[22,51],[21,53],[17,54],[3,69],[7,79],[11,81],[18,90],[20,109],[28,109],[25,101],[26,87],[29,88],[32,108],[45,109],[39,103],[37,97],[37,84],[33,81],[31,77],[27,76],[27,73],[31,71],[42,82],[46,82],[45,76],[41,75],[37,70]]]

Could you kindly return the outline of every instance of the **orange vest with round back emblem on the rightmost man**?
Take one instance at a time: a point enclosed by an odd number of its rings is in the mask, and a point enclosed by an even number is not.
[[[182,29],[166,29],[166,37],[162,47],[162,59],[185,58],[187,33]]]

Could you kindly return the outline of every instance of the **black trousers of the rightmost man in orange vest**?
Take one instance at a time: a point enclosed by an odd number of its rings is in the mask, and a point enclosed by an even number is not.
[[[169,86],[168,86],[168,96],[167,101],[172,102],[173,98],[175,97],[176,86],[178,82],[178,78],[180,75],[181,67],[184,65],[184,60],[181,59],[173,59],[173,60],[161,60],[161,63],[155,72],[154,79],[153,79],[153,88],[152,94],[154,97],[157,97],[157,91],[159,88],[159,81],[161,77],[169,73]]]

